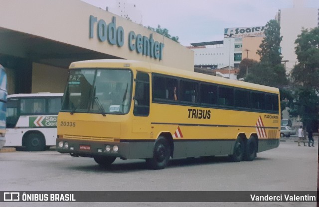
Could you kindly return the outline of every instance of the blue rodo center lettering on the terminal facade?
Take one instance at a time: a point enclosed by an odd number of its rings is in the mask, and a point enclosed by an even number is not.
[[[100,42],[107,41],[110,45],[122,47],[125,44],[125,31],[122,26],[116,25],[116,17],[112,17],[112,22],[106,23],[103,19],[90,15],[90,39],[94,38],[94,26],[96,25],[96,36]],[[128,46],[130,51],[162,60],[164,44],[153,39],[153,34],[149,37],[136,34],[130,31],[128,34]]]

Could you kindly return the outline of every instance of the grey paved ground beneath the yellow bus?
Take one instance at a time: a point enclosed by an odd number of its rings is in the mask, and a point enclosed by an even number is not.
[[[91,158],[56,151],[0,153],[0,191],[316,191],[316,147],[294,138],[258,153],[253,162],[177,159],[164,170],[143,160],[116,160],[110,169]],[[1,207],[315,207],[316,203],[4,203]]]

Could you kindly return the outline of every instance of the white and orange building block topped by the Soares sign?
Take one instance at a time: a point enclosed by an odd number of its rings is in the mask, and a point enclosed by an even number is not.
[[[194,66],[209,69],[231,70],[239,68],[242,59],[260,61],[257,50],[265,37],[264,26],[225,28],[224,40],[192,43]],[[223,77],[236,79],[235,71],[221,73]]]

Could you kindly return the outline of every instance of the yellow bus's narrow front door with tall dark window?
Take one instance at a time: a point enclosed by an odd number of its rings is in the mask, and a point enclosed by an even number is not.
[[[150,75],[137,72],[135,79],[133,133],[136,138],[150,139]]]

